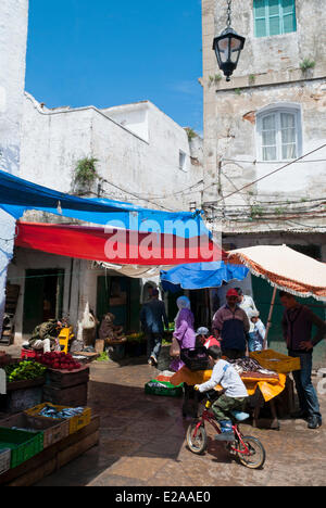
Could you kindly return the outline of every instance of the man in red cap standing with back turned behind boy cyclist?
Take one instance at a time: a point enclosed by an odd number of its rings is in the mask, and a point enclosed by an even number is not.
[[[238,292],[229,289],[226,304],[213,317],[213,331],[221,340],[222,354],[229,359],[241,358],[248,348],[250,322],[247,314],[238,305]]]

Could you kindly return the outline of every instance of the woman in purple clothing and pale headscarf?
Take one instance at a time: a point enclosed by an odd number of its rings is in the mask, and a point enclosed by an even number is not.
[[[175,331],[173,336],[178,341],[180,350],[195,347],[196,332],[193,329],[193,314],[190,310],[190,301],[187,296],[179,296],[177,300],[178,314],[175,318]],[[174,371],[179,370],[184,366],[180,358],[175,358],[170,368]]]

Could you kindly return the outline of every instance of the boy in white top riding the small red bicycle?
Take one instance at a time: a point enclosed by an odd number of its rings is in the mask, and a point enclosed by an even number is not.
[[[222,385],[223,395],[212,404],[212,410],[222,431],[222,434],[217,434],[215,439],[218,441],[234,441],[233,422],[229,414],[233,410],[243,410],[248,392],[238,372],[228,361],[222,359],[222,351],[218,346],[209,347],[208,353],[214,364],[212,377],[205,383],[196,384],[195,390],[203,393],[214,389],[216,384]]]

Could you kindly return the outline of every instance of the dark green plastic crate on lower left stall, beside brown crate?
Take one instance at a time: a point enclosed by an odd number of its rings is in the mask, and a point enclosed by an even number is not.
[[[39,454],[43,449],[43,433],[27,432],[0,427],[0,449],[11,449],[11,469]]]

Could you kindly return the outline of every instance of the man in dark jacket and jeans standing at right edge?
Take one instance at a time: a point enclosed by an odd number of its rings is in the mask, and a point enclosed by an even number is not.
[[[316,391],[311,380],[312,353],[318,342],[326,336],[326,322],[313,314],[305,305],[297,302],[292,294],[279,292],[285,313],[281,320],[283,335],[287,343],[289,356],[300,358],[301,370],[292,372],[300,411],[293,414],[296,418],[306,418],[309,429],[322,426],[322,415]],[[317,332],[312,338],[313,325]]]

